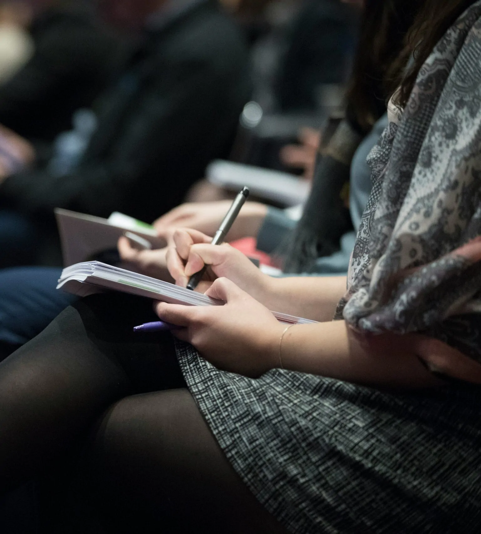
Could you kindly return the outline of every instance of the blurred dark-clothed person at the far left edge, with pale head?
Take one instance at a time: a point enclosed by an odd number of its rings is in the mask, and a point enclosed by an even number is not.
[[[122,41],[96,17],[91,0],[6,0],[0,5],[0,176],[36,160],[69,128],[72,113],[90,106],[118,72]],[[2,265],[33,261],[37,234],[21,214],[0,211],[2,236],[12,236]]]

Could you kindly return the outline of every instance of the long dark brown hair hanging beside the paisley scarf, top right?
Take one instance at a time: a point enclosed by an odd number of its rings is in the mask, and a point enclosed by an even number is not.
[[[369,131],[399,89],[404,107],[429,54],[476,0],[367,0],[347,99]],[[411,58],[412,65],[406,70]]]

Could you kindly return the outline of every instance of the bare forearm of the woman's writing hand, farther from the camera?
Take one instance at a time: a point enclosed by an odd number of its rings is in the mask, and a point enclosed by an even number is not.
[[[346,292],[346,277],[269,278],[259,298],[273,311],[315,321],[330,321]]]

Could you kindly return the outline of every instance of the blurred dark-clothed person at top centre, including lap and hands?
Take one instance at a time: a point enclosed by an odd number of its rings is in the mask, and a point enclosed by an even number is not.
[[[256,128],[241,128],[232,158],[296,172],[310,180],[320,144],[319,130],[313,126],[324,122],[328,108],[342,111],[344,106],[345,84],[359,31],[359,10],[338,0],[276,0],[257,3],[255,10],[252,2],[234,3],[244,17],[245,27],[252,21],[265,22],[251,51],[252,100],[267,121],[271,118],[273,124],[283,126],[267,127],[271,130],[267,138],[258,136]],[[286,129],[290,122],[296,125]],[[262,124],[263,121],[261,130]],[[304,125],[298,134],[299,144],[291,145],[299,125]],[[186,200],[229,197],[230,192],[204,180],[192,188]]]

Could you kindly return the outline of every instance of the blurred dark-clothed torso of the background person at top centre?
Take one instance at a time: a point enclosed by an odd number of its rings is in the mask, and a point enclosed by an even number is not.
[[[338,0],[222,0],[250,25],[253,99],[265,112],[314,111],[322,86],[344,84],[358,31],[356,12]]]

